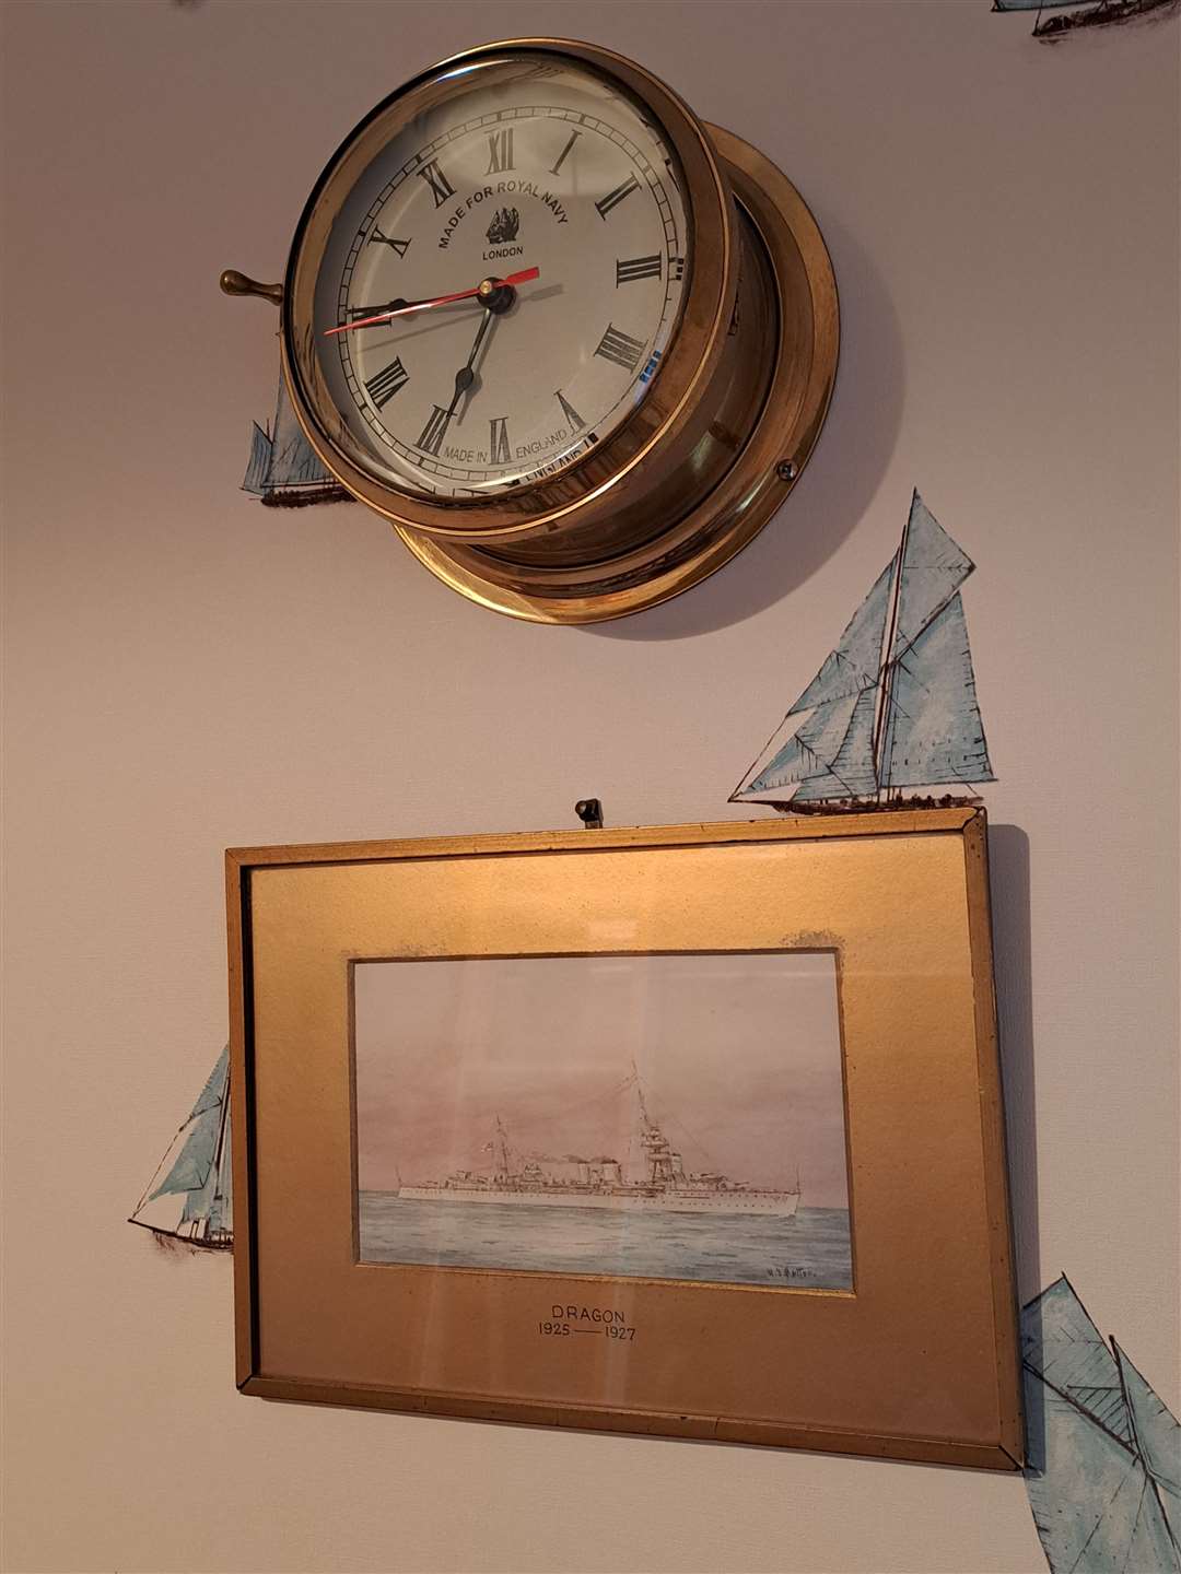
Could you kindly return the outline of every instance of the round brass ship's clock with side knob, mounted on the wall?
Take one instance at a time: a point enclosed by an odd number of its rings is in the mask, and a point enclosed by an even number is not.
[[[590,623],[734,556],[816,444],[838,305],[795,187],[620,55],[515,39],[320,176],[283,371],[328,469],[463,595]]]

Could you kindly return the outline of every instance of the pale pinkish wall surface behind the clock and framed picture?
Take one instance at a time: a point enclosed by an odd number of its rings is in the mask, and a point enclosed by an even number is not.
[[[1178,24],[1060,49],[987,0],[2,24],[6,1566],[1035,1574],[1019,1480],[242,1399],[228,1264],[123,1218],[227,1031],[225,845],[568,825],[587,793],[616,825],[740,817],[918,485],[979,563],[1022,1288],[1066,1270],[1176,1407]],[[216,288],[279,277],[400,79],[564,31],[783,165],[844,316],[783,515],[597,631],[491,617],[361,508],[247,501],[276,324]]]

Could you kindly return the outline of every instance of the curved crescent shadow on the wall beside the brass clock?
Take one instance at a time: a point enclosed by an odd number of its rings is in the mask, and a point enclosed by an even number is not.
[[[831,219],[822,228],[841,299],[841,360],[828,420],[800,483],[751,545],[701,586],[583,633],[690,639],[742,623],[805,584],[876,496],[902,416],[902,337],[872,261]]]

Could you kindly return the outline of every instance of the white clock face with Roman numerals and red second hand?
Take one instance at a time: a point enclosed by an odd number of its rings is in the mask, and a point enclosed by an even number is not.
[[[337,216],[315,340],[365,466],[474,502],[575,463],[644,398],[688,238],[676,154],[611,79],[545,55],[442,79]]]

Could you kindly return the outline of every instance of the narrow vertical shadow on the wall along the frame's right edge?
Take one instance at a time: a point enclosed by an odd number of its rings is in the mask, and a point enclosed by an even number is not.
[[[1041,1286],[1041,1251],[1030,968],[1030,839],[1016,825],[989,826],[989,885],[1013,1196],[1014,1275],[1017,1300],[1024,1303],[1036,1295]]]

